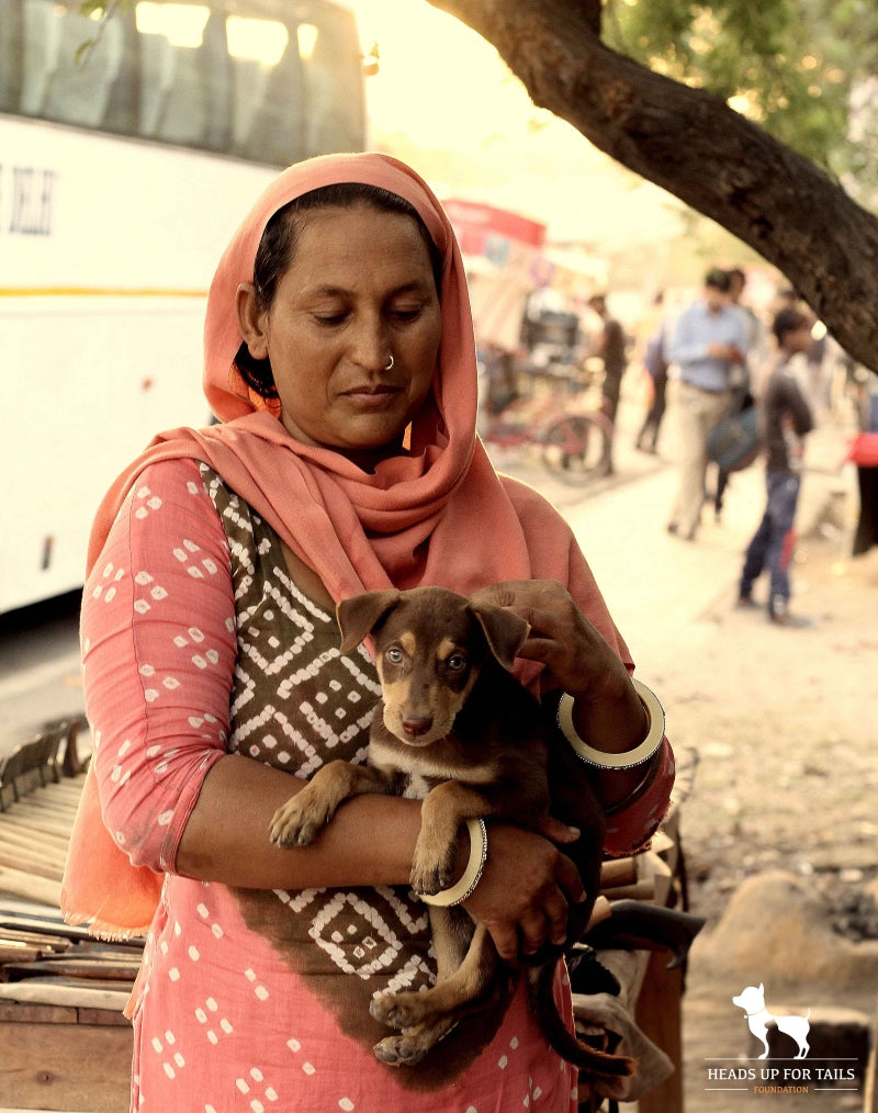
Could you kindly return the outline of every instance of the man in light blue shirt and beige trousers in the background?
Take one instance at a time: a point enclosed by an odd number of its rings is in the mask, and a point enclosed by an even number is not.
[[[702,296],[680,314],[669,352],[679,367],[680,485],[668,532],[687,541],[694,540],[701,519],[708,435],[729,410],[732,370],[747,354],[747,329],[730,290],[728,272],[709,270]]]

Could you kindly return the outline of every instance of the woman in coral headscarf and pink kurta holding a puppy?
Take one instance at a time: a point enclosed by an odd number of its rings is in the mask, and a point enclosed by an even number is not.
[[[387,1031],[373,994],[433,976],[406,886],[417,801],[352,800],[305,849],[267,835],[288,772],[304,784],[326,758],[363,758],[376,678],[364,650],[339,656],[333,611],[364,588],[500,583],[497,601],[533,626],[521,678],[569,692],[575,729],[611,761],[647,732],[570,531],[475,439],[444,211],[384,156],[292,167],[220,260],[205,349],[224,424],[164,434],[117,481],[82,613],[96,757],[63,906],[105,932],[149,927],[131,1109],[569,1113],[575,1078],[519,986],[418,1068],[374,1058]],[[672,777],[667,741],[595,771],[609,853],[649,838]],[[468,854],[464,833],[462,871]],[[512,958],[563,938],[581,896],[558,845],[492,825],[465,907]]]

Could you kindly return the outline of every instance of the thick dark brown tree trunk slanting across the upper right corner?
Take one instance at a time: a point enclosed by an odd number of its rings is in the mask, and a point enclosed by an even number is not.
[[[878,218],[811,161],[721,98],[608,49],[600,0],[430,2],[492,42],[535,105],[773,264],[878,371]]]

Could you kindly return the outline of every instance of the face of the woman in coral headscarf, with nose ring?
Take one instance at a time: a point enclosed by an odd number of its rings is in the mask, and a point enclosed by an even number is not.
[[[413,219],[368,206],[308,213],[270,308],[256,308],[247,284],[238,316],[250,353],[272,362],[293,436],[367,470],[399,451],[430,392],[441,335]]]

